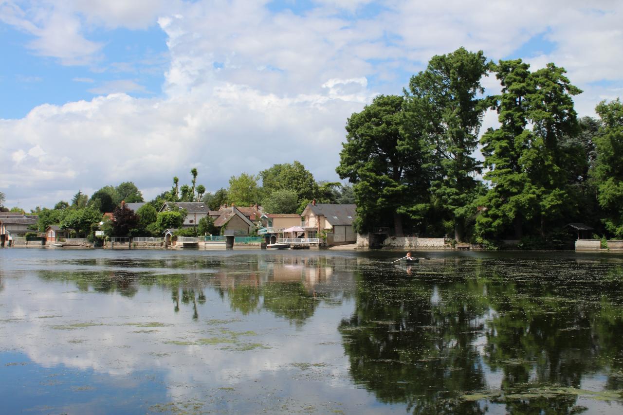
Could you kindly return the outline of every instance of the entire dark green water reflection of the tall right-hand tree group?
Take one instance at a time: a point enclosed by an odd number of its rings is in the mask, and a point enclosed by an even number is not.
[[[587,376],[622,388],[619,268],[451,260],[415,280],[399,272],[363,269],[340,324],[354,381],[382,402],[416,414],[483,413],[487,402],[576,414]]]

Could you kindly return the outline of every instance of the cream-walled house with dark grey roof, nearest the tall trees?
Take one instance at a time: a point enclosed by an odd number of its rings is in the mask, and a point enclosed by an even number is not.
[[[313,201],[301,214],[305,237],[321,237],[324,232],[328,245],[354,244],[357,241],[353,230],[356,207],[355,204]]]

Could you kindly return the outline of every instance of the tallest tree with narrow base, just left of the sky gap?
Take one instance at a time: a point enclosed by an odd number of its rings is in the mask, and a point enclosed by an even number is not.
[[[472,153],[486,107],[480,80],[487,70],[482,50],[474,53],[461,47],[432,57],[426,70],[411,78],[407,92],[409,112],[423,118],[417,126],[434,149],[430,168],[435,171],[431,183],[435,204],[454,222],[457,240],[463,237],[482,186],[474,177],[482,168]]]

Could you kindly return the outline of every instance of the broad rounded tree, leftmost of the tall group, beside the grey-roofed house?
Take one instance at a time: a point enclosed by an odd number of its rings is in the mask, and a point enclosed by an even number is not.
[[[421,141],[405,133],[403,118],[397,95],[379,95],[348,118],[336,171],[353,183],[358,231],[393,226],[402,234],[403,216],[417,216],[416,207],[427,199]]]

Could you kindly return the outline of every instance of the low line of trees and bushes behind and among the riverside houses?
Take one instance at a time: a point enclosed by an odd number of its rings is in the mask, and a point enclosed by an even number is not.
[[[40,206],[32,209],[31,212],[39,216],[32,230],[45,232],[48,226],[58,225],[77,237],[92,237],[97,229],[102,229],[106,236],[159,237],[166,229],[183,227],[188,212],[179,203],[203,202],[212,211],[218,211],[222,206],[261,204],[265,212],[293,214],[302,212],[312,200],[318,203],[354,201],[351,186],[316,182],[313,174],[298,161],[273,165],[255,175],[242,173],[232,176],[228,188],[214,193],[206,193],[206,187],[197,184],[199,173],[196,168],[190,173],[191,183],[181,184],[179,178],[174,177],[171,189],[163,191],[136,211],[121,203],[144,201],[143,194],[132,182],[104,186],[90,197],[78,190],[70,202],[59,201],[53,209]],[[0,194],[0,206],[3,202],[4,194]],[[168,209],[160,211],[164,203],[168,203]],[[11,210],[24,212],[19,207]],[[112,216],[103,217],[105,213],[112,213]],[[179,229],[178,234],[196,236],[218,232],[214,220],[208,216],[202,217],[191,229]]]

